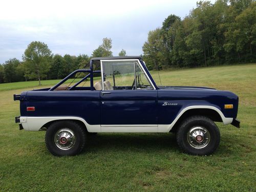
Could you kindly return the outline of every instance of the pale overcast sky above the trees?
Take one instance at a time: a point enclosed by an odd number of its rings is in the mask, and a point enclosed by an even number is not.
[[[142,54],[147,33],[164,18],[183,18],[197,0],[158,1],[2,1],[0,7],[0,63],[22,59],[31,41],[45,42],[53,54],[88,54],[112,39],[113,55]],[[212,1],[214,2],[214,1]]]

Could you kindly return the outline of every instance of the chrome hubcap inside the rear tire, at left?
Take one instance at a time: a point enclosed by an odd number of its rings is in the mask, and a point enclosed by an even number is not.
[[[54,143],[61,150],[70,150],[75,142],[75,134],[68,128],[58,130],[54,136]]]

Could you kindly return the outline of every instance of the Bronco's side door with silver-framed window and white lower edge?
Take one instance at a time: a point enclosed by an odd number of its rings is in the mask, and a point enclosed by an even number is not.
[[[139,61],[101,61],[101,69],[101,131],[157,132],[157,90]]]

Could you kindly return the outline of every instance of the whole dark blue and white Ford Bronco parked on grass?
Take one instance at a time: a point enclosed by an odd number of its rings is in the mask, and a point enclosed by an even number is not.
[[[174,132],[184,152],[207,155],[220,143],[214,121],[240,126],[237,95],[157,86],[139,56],[92,58],[55,86],[22,92],[14,100],[20,101],[19,129],[46,131],[55,156],[77,155],[88,136],[107,132]]]

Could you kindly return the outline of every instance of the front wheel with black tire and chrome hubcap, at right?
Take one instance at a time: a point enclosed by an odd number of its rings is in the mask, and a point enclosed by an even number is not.
[[[192,116],[181,123],[176,138],[184,152],[192,155],[208,155],[215,152],[219,146],[220,131],[208,117]]]

